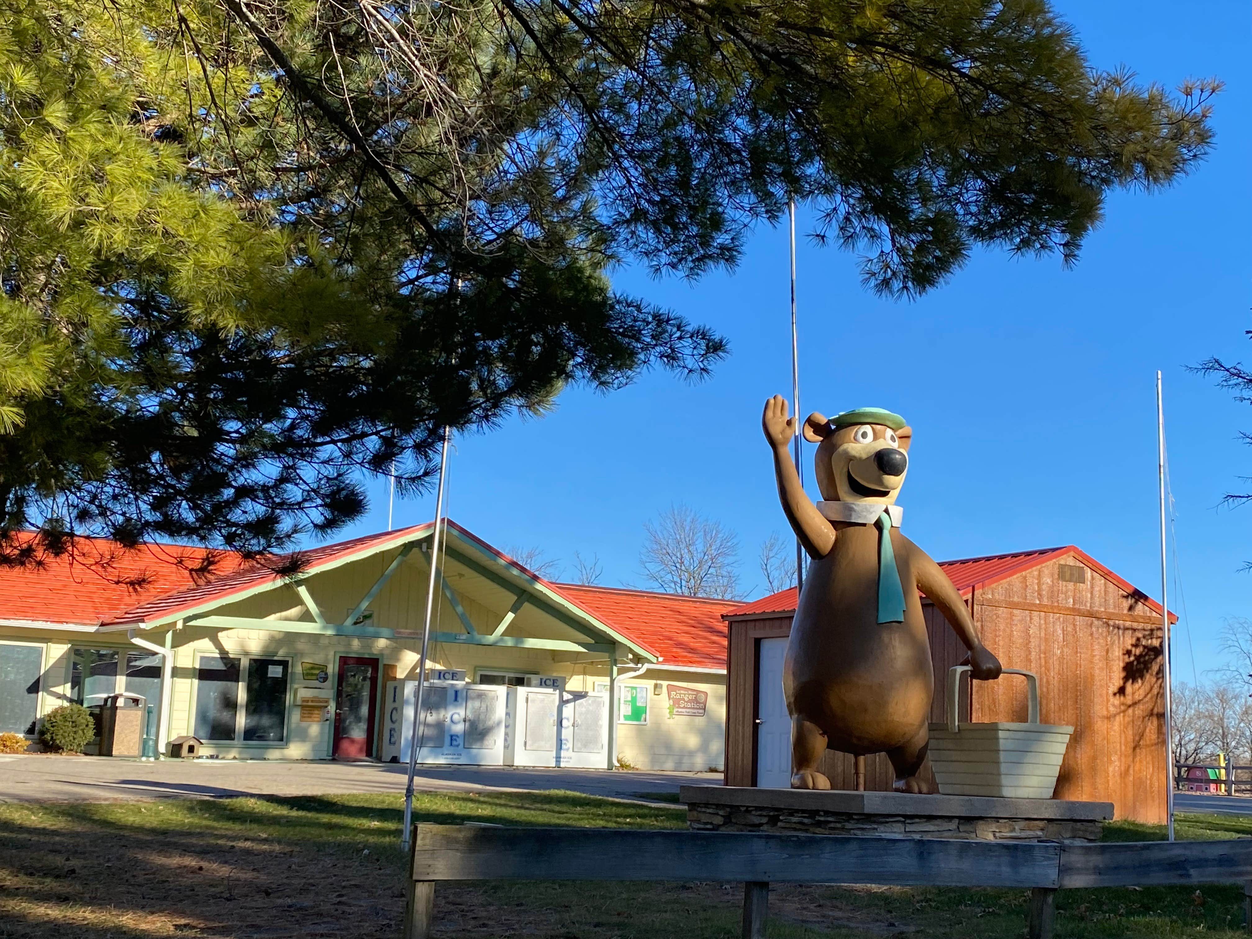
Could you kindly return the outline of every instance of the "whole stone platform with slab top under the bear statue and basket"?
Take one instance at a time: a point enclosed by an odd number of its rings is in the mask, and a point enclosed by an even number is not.
[[[795,831],[1018,841],[1098,841],[1112,803],[741,786],[682,786],[699,831]]]

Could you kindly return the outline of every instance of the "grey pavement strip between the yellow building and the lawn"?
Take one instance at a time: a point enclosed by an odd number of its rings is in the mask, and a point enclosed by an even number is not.
[[[403,765],[376,762],[144,762],[103,756],[0,756],[0,801],[403,793],[406,769]],[[419,766],[416,781],[423,791],[572,789],[587,795],[630,799],[640,793],[677,793],[680,785],[720,786],[721,775]]]

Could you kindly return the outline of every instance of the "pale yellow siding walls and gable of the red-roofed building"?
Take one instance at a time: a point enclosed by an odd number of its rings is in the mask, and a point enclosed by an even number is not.
[[[329,571],[313,575],[304,581],[328,622],[342,622],[347,612],[356,607],[379,575],[391,565],[398,548],[383,555],[362,558]],[[491,634],[501,617],[513,603],[513,595],[477,573],[459,567],[454,560],[447,566],[449,586],[470,621],[480,634]],[[331,754],[333,724],[300,722],[299,700],[305,694],[328,697],[334,705],[334,682],[338,657],[343,655],[377,656],[382,666],[394,666],[401,679],[417,674],[421,652],[421,629],[426,613],[426,590],[429,568],[426,557],[414,550],[392,575],[383,590],[369,603],[374,611],[373,626],[402,632],[393,640],[329,636],[269,630],[207,630],[194,622],[174,632],[174,680],[170,694],[170,739],[194,732],[197,659],[202,655],[260,656],[287,659],[290,662],[288,691],[288,720],[285,740],[282,744],[257,744],[243,741],[204,741],[204,755],[220,759],[327,759]],[[462,632],[459,617],[442,591],[432,611],[432,631]],[[283,615],[284,620],[313,617],[303,610],[303,601],[294,586],[279,581],[269,590],[234,602],[225,602],[205,611],[212,615],[264,618]],[[562,639],[588,641],[582,634],[558,620],[526,605],[508,626],[508,636],[532,639]],[[90,647],[134,649],[124,632],[93,634],[55,630],[0,629],[0,637],[16,641],[46,644],[45,670],[40,714],[61,704],[69,695],[69,649],[71,645]],[[164,630],[154,630],[148,636],[162,644]],[[626,649],[618,646],[621,671],[630,671]],[[598,654],[580,656],[571,661],[570,652],[540,649],[485,647],[462,644],[432,642],[429,662],[432,667],[462,669],[471,680],[480,669],[512,671],[535,675],[555,675],[566,680],[571,690],[591,689],[595,681],[607,681],[607,660]],[[319,662],[327,666],[331,679],[326,685],[303,681],[300,662]],[[240,687],[240,707],[245,695],[245,676]],[[721,767],[724,762],[724,727],[726,712],[725,677],[702,672],[645,672],[639,684],[654,681],[677,684],[709,694],[705,717],[667,715],[666,695],[650,697],[650,722],[646,726],[618,725],[618,752],[642,769],[655,770],[705,770]],[[383,689],[379,689],[382,694]]]

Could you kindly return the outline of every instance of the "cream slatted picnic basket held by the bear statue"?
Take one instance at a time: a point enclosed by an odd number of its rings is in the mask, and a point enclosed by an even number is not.
[[[1027,682],[1027,722],[958,724],[960,676],[968,665],[948,672],[948,722],[930,725],[930,766],[944,795],[989,795],[1003,799],[1052,799],[1073,727],[1039,724],[1039,680],[1028,671],[1005,669]]]

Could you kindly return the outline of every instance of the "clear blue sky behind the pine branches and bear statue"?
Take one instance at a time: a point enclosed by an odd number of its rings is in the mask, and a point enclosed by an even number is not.
[[[1224,80],[1213,154],[1166,192],[1114,194],[1073,269],[984,253],[911,303],[861,289],[855,258],[804,238],[801,210],[801,411],[904,414],[904,531],[935,558],[1074,543],[1159,596],[1159,368],[1186,597],[1174,670],[1189,681],[1192,651],[1203,677],[1221,664],[1223,620],[1252,616],[1252,573],[1239,572],[1252,506],[1219,505],[1252,476],[1237,438],[1252,408],[1186,371],[1213,354],[1252,362],[1248,9],[1057,6],[1097,66],[1169,86]],[[449,515],[497,546],[541,548],[568,576],[575,551],[595,555],[616,586],[642,583],[644,523],[686,503],[736,532],[759,596],[760,543],[789,536],[760,432],[765,398],[790,388],[786,278],[781,227],[756,232],[737,270],[695,284],[618,272],[620,289],[721,331],[730,358],[704,383],[659,372],[610,396],[571,389],[551,416],[457,439]],[[386,527],[386,485],[372,488],[371,513],[343,537]],[[397,526],[432,515],[433,495],[396,505]],[[1182,612],[1177,592],[1171,607]]]

